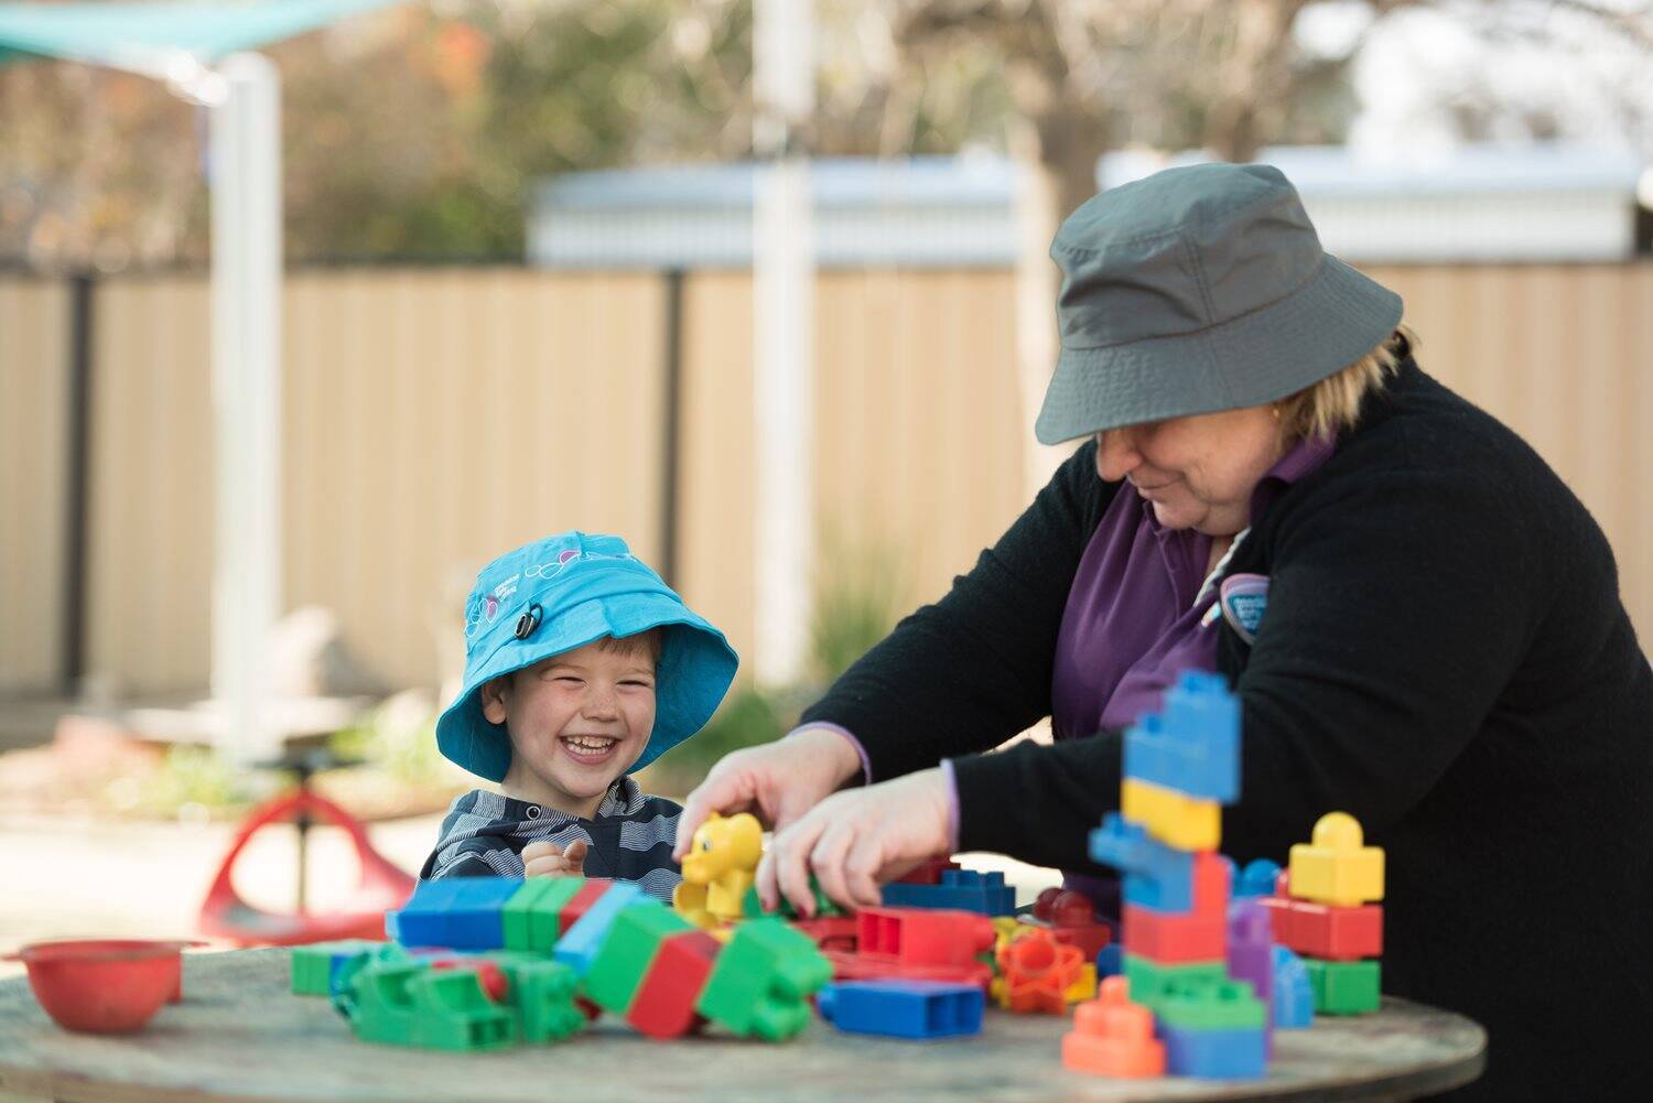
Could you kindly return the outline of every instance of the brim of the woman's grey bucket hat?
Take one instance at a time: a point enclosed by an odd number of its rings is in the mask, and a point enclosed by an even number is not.
[[[1276,402],[1359,361],[1400,316],[1398,294],[1327,255],[1306,284],[1227,322],[1101,349],[1063,346],[1033,432],[1056,445]]]

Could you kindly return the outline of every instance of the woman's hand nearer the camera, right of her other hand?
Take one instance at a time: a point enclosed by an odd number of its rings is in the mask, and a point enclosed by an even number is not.
[[[952,794],[941,769],[826,797],[775,833],[757,867],[757,893],[774,911],[784,893],[815,914],[810,873],[840,905],[874,908],[879,881],[952,848]]]

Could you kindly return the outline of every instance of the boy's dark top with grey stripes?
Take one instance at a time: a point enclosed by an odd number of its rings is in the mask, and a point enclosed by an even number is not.
[[[671,860],[683,809],[665,797],[645,795],[630,777],[608,787],[597,815],[584,820],[557,809],[473,789],[455,799],[441,822],[441,838],[420,870],[420,880],[440,876],[522,876],[522,848],[532,842],[567,847],[590,843],[585,876],[636,881],[656,900],[671,900],[683,875]]]

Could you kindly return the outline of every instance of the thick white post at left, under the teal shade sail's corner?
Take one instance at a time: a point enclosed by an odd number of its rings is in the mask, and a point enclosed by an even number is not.
[[[281,602],[281,78],[261,55],[218,66],[212,107],[215,432],[213,696],[220,747],[274,751],[264,647]]]

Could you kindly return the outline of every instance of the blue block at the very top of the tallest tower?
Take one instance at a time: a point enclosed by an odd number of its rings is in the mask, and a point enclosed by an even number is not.
[[[1182,671],[1159,714],[1126,731],[1124,776],[1220,804],[1240,799],[1240,700],[1222,675]]]

